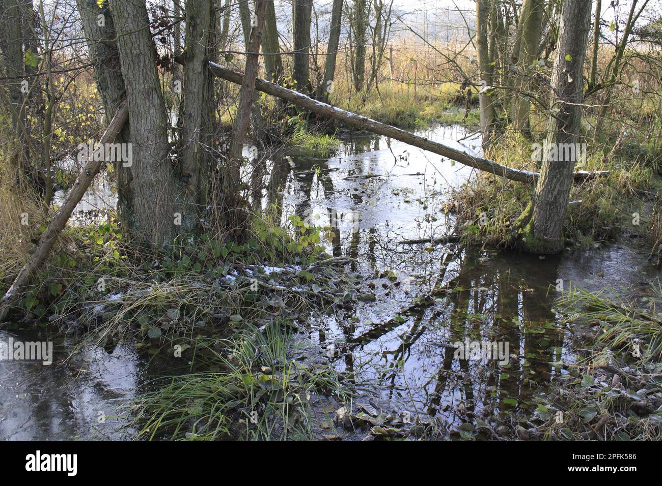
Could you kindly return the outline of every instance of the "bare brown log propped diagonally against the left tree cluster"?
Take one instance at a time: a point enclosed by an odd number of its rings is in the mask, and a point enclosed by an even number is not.
[[[128,105],[124,103],[124,105],[117,110],[115,117],[101,135],[99,143],[113,142],[115,137],[117,137],[117,134],[124,127],[124,124],[126,124],[127,120]],[[83,198],[83,194],[85,194],[89,184],[92,183],[94,177],[99,173],[101,165],[105,164],[105,160],[94,160],[95,158],[97,157],[91,157],[91,159],[87,160],[85,167],[78,175],[75,185],[70,190],[64,204],[55,212],[55,217],[46,228],[46,231],[41,235],[39,243],[34,247],[34,251],[32,251],[32,255],[30,255],[23,270],[21,270],[13,284],[11,284],[11,287],[9,287],[9,290],[7,290],[7,293],[3,296],[2,301],[0,302],[0,322],[4,322],[5,319],[7,319],[12,302],[21,296],[23,288],[30,283],[30,279],[34,276],[36,270],[38,270],[41,264],[46,261],[46,258],[48,257],[55,241],[58,239],[60,232],[66,226],[71,213],[80,202],[81,198]]]

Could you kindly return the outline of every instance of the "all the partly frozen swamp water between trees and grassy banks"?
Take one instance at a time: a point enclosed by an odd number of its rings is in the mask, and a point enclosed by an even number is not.
[[[423,135],[479,151],[477,136],[459,127]],[[348,138],[330,159],[273,156],[264,167],[254,182],[266,189],[254,192],[254,202],[282,206],[282,222],[296,214],[330,225],[336,237],[329,252],[350,257],[351,270],[365,277],[365,302],[312,315],[301,323],[293,354],[328,356],[357,384],[356,403],[380,410],[435,418],[448,428],[477,419],[507,422],[535,407],[534,394],[591,339],[559,324],[559,286],[629,295],[659,277],[629,243],[546,258],[399,243],[452,231],[444,202],[472,170],[383,137]],[[115,205],[112,194],[97,192],[83,210]],[[46,332],[5,329],[0,341],[49,339]],[[501,360],[455,357],[453,343],[467,340],[507,344],[507,352]],[[75,337],[54,341],[50,366],[0,361],[0,438],[130,437],[113,411],[171,372],[169,365],[130,343],[71,354]],[[329,413],[334,406],[319,404]]]

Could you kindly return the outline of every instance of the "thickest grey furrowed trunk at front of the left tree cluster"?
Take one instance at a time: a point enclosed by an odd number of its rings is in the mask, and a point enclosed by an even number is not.
[[[138,242],[164,248],[173,243],[177,186],[167,143],[166,108],[156,69],[156,46],[144,1],[114,0],[122,77],[126,85],[132,161],[126,185],[118,187],[120,218]],[[178,218],[179,217],[179,218]]]

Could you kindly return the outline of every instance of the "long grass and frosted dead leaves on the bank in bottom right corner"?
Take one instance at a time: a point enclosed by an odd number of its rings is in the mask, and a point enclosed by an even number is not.
[[[540,397],[526,424],[540,438],[662,439],[662,288],[632,302],[581,289],[561,305],[565,321],[596,329],[591,354]]]

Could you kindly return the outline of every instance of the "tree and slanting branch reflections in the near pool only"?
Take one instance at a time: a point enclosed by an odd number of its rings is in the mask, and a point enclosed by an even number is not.
[[[520,282],[523,276],[520,272],[527,272],[528,268],[518,268],[516,264],[510,268],[495,268],[483,264],[479,257],[481,251],[477,248],[447,253],[440,280],[445,280],[444,269],[452,268],[453,263],[457,264],[457,274],[445,286],[449,289],[446,304],[433,306],[430,302],[420,302],[400,314],[407,318],[408,324],[397,336],[389,337],[388,342],[397,345],[381,351],[387,366],[377,377],[381,384],[388,382],[390,385],[389,399],[393,398],[397,381],[402,379],[402,364],[425,348],[439,350],[440,368],[434,378],[430,377],[432,379],[423,376],[424,389],[412,392],[416,395],[414,399],[421,400],[422,408],[432,416],[438,414],[446,403],[457,405],[457,399],[461,399],[465,411],[481,410],[491,415],[498,409],[501,413],[510,413],[514,405],[504,399],[515,399],[522,405],[532,398],[536,389],[529,380],[538,384],[551,380],[549,362],[559,358],[552,356],[551,349],[553,346],[560,349],[563,344],[559,329],[544,329],[545,323],[554,321],[553,298],[544,288],[529,289]],[[402,321],[391,319],[371,326],[358,336],[353,335],[355,327],[344,329],[346,346],[338,350],[337,356],[343,356],[347,369],[355,372],[349,365],[354,363],[356,356],[349,356],[358,352],[365,360],[363,348],[402,325]],[[454,348],[429,343],[430,337],[435,339],[430,333],[440,325],[447,329],[443,340],[447,344],[466,338],[471,341],[505,341],[508,353],[516,357],[510,356],[508,368],[501,368],[496,360],[458,360],[454,357]],[[520,351],[524,356],[520,356]],[[522,357],[526,361],[520,361]],[[434,361],[434,356],[416,359]],[[415,369],[406,372],[422,373]],[[432,389],[428,390],[428,384]]]

